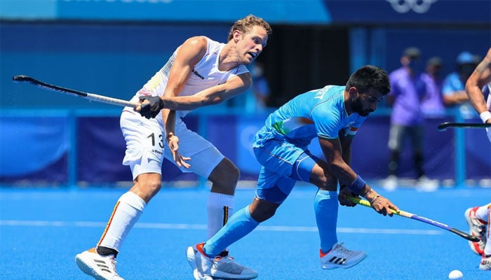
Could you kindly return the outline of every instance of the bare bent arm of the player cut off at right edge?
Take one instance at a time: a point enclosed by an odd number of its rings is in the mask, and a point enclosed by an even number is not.
[[[469,95],[472,106],[480,115],[483,113],[488,114],[486,113],[488,112],[487,106],[481,90],[487,83],[491,83],[491,48],[487,50],[487,55],[476,66],[476,69],[466,81],[466,93]],[[487,118],[486,123],[491,123],[491,118]]]

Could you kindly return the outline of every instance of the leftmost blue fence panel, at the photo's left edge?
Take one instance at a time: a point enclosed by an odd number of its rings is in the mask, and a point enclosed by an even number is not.
[[[2,116],[0,135],[1,183],[67,183],[67,116]]]

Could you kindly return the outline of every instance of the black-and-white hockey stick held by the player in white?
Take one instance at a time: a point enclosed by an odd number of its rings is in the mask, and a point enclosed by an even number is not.
[[[36,85],[36,87],[41,87],[41,88],[46,89],[46,90],[52,90],[54,92],[61,92],[61,93],[76,96],[76,97],[82,97],[82,98],[89,99],[89,100],[95,101],[95,102],[112,104],[112,105],[123,106],[123,107],[128,106],[128,107],[133,107],[133,108],[135,108],[135,106],[137,106],[136,103],[129,102],[129,101],[122,100],[122,99],[116,99],[113,97],[105,97],[103,95],[93,94],[93,93],[89,93],[89,92],[81,92],[79,90],[72,90],[72,89],[69,89],[66,87],[60,87],[58,85],[50,85],[48,83],[41,82],[41,80],[36,80],[35,78],[31,78],[29,76],[17,75],[17,76],[13,76],[12,80],[14,80],[15,82],[22,82],[22,83],[27,82],[27,83],[30,83],[32,85]]]

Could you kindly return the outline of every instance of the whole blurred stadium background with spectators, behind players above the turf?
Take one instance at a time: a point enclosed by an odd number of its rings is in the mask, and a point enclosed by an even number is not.
[[[358,133],[354,169],[386,188],[405,179],[489,186],[485,133],[437,132],[436,125],[479,121],[464,83],[491,45],[490,10],[480,0],[2,0],[0,183],[131,181],[117,164],[121,109],[18,85],[12,76],[130,99],[184,38],[225,41],[231,22],[253,13],[274,31],[250,66],[250,93],[187,117],[236,162],[243,180],[257,179],[250,141],[269,111],[375,64],[391,74],[393,92]],[[167,164],[164,181],[200,180]]]

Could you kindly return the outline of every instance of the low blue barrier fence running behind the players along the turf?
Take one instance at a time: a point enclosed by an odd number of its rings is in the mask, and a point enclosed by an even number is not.
[[[126,186],[129,167],[121,165],[125,142],[119,110],[1,111],[0,186]],[[389,111],[365,121],[352,146],[352,167],[365,179],[383,179],[389,159]],[[241,170],[241,180],[255,181],[260,169],[251,143],[267,113],[244,116],[237,110],[201,111],[186,117],[189,129],[211,141]],[[450,115],[426,120],[425,164],[429,178],[464,186],[469,179],[491,178],[491,145],[484,130],[447,130],[436,126]],[[468,120],[478,121],[478,120]],[[311,151],[322,157],[316,139]],[[163,164],[164,183],[200,185],[204,179]],[[412,178],[412,152],[401,153],[401,177]],[[198,182],[198,183],[196,183]]]

